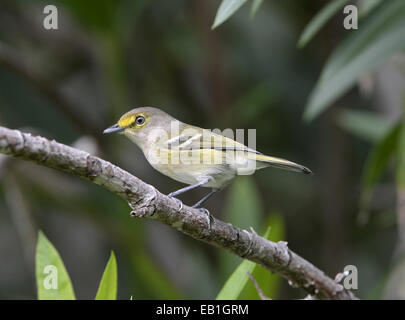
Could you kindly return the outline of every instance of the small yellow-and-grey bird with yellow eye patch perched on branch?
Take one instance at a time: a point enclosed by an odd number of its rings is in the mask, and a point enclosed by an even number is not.
[[[201,205],[224,189],[238,175],[250,175],[256,170],[276,167],[312,174],[303,165],[282,158],[267,156],[209,129],[183,123],[155,107],[139,107],[121,116],[103,133],[125,135],[143,152],[149,164],[160,173],[187,184],[171,192],[177,196],[198,187],[210,188],[201,200],[192,205],[209,214]]]

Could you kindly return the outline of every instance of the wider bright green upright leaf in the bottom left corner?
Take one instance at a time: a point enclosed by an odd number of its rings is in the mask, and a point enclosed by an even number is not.
[[[72,283],[58,251],[39,231],[35,255],[39,300],[74,300]]]

